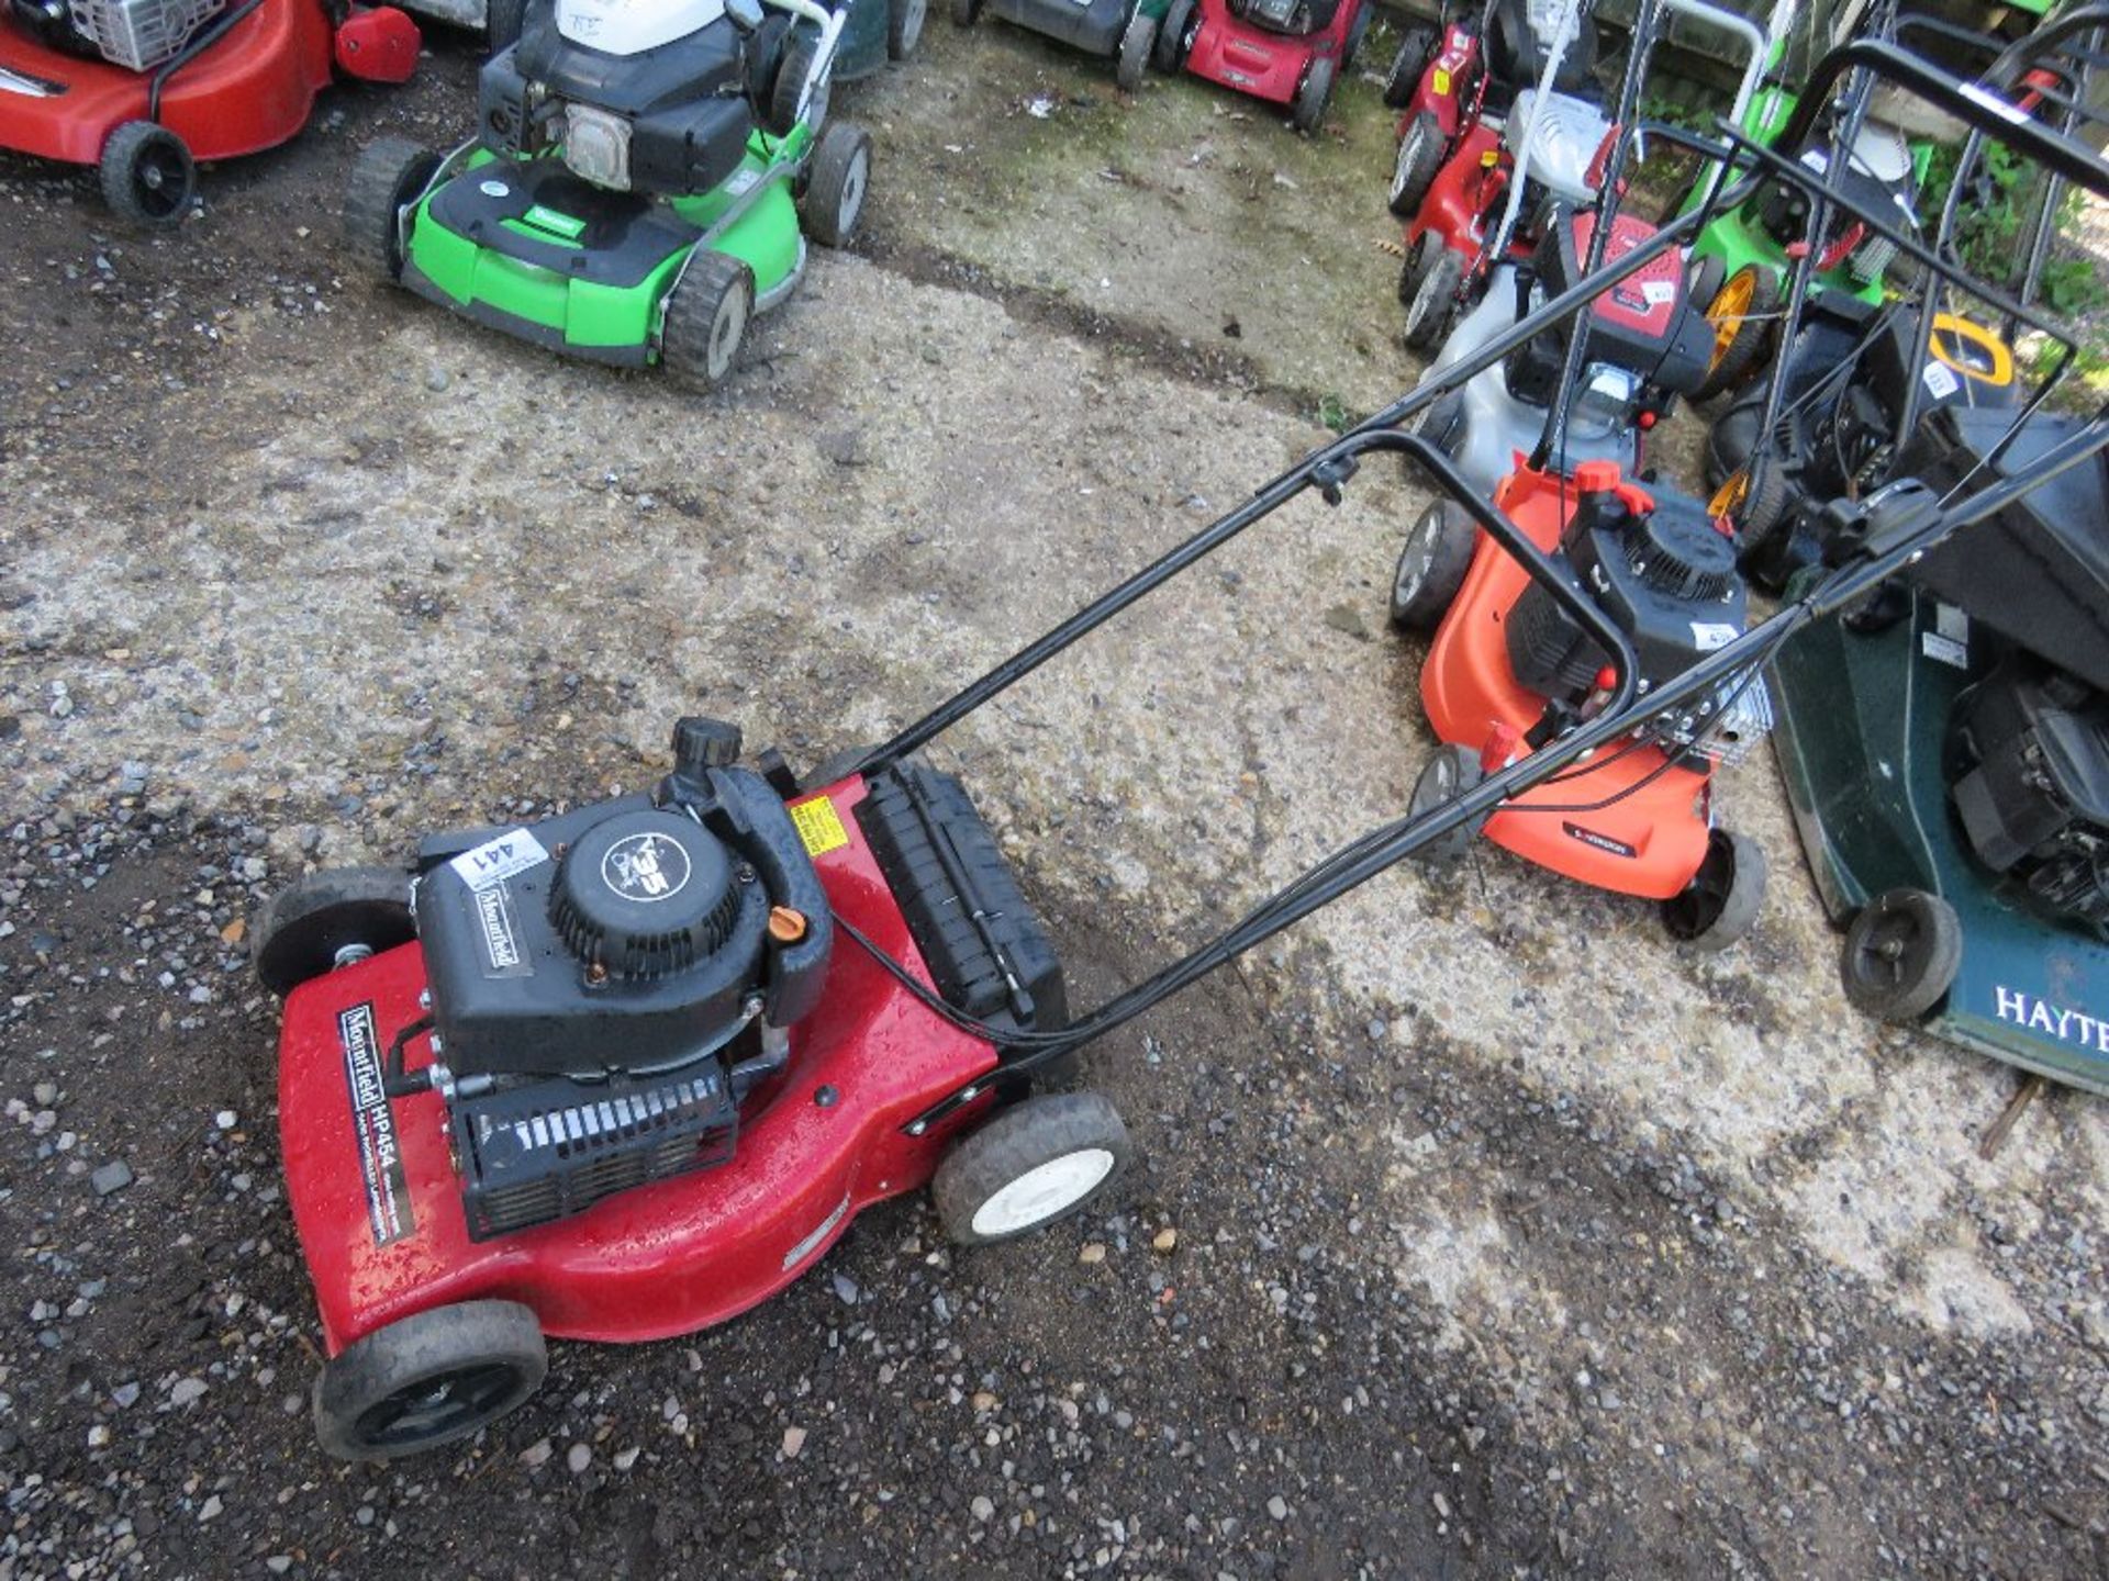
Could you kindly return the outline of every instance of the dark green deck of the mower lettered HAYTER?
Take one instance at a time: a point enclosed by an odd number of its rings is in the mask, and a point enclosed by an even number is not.
[[[1963,953],[1926,1031],[2109,1094],[2109,946],[1989,881],[1949,809],[1949,713],[1972,672],[1968,622],[1930,594],[1885,630],[1831,620],[1774,662],[1774,742],[1801,847],[1833,919],[1898,887],[1947,900]]]

